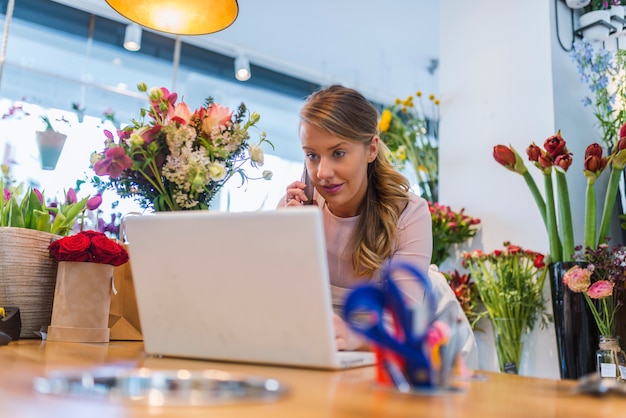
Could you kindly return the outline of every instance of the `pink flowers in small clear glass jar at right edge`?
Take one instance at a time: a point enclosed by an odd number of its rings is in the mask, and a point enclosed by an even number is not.
[[[626,248],[610,248],[604,243],[596,249],[587,247],[583,251],[580,246],[576,249],[579,264],[563,275],[563,283],[572,292],[584,296],[593,314],[600,333],[600,350],[596,354],[598,372],[602,377],[624,379],[626,357],[618,344],[615,314],[624,304]]]

